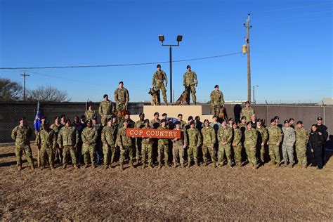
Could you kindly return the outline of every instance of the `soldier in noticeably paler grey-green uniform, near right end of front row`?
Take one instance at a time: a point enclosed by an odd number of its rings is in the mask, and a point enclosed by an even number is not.
[[[285,126],[282,127],[283,142],[282,142],[282,154],[285,161],[285,166],[288,164],[292,168],[294,165],[294,143],[296,141],[295,130],[289,126],[289,120],[285,120]]]

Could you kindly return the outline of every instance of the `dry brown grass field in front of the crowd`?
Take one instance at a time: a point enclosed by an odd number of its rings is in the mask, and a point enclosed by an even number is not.
[[[13,150],[0,147],[2,221],[333,219],[333,158],[322,170],[209,165],[32,171],[25,161],[17,171]]]

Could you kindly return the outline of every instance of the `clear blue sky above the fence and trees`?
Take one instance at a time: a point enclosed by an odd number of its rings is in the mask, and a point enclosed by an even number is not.
[[[241,51],[251,13],[256,100],[318,102],[332,97],[332,1],[16,1],[0,0],[0,67],[107,65],[182,60]],[[220,85],[226,100],[247,99],[247,57],[173,63],[175,98],[186,65],[197,72],[197,100]],[[150,100],[154,65],[27,70],[27,87],[53,85],[73,101],[102,100],[120,80],[131,101]],[[169,63],[162,64],[169,77]],[[0,77],[22,82],[21,70]],[[167,92],[169,100],[169,87]],[[113,96],[111,97],[113,100]]]

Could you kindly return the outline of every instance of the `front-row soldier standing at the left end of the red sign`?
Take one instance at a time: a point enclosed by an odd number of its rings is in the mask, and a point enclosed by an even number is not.
[[[120,148],[120,169],[124,170],[124,159],[127,155],[129,155],[129,163],[131,164],[131,167],[134,167],[133,165],[133,142],[132,138],[126,136],[126,129],[129,125],[129,122],[127,120],[124,121],[123,127],[118,130],[117,134],[117,145]]]

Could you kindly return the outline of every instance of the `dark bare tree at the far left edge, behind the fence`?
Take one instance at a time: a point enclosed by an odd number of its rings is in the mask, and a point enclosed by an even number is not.
[[[0,79],[0,101],[22,100],[23,87],[17,81]]]

